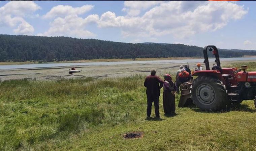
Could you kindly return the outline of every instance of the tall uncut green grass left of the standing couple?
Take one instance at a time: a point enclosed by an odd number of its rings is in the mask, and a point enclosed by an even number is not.
[[[81,128],[134,120],[126,112],[142,77],[0,83],[0,150],[18,149]],[[140,88],[140,89],[139,89]],[[81,127],[82,125],[82,127]]]

